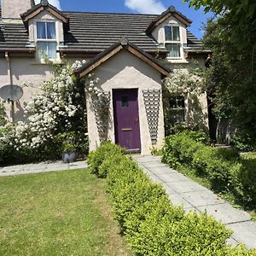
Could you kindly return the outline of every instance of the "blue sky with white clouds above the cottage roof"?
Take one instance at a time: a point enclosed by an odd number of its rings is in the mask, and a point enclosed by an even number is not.
[[[39,0],[36,0],[36,2]],[[144,13],[160,14],[171,5],[193,20],[189,30],[197,38],[201,38],[202,23],[206,23],[211,15],[205,15],[203,10],[189,8],[182,0],[49,0],[57,8],[71,11],[106,12],[106,13]]]

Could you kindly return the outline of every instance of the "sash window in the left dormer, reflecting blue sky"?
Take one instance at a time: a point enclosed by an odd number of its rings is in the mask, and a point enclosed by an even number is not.
[[[47,55],[49,59],[57,58],[57,37],[56,25],[54,21],[37,22],[37,52],[38,59],[44,59]]]

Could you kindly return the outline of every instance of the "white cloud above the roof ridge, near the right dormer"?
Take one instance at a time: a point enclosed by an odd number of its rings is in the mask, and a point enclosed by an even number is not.
[[[158,0],[125,0],[125,6],[140,14],[159,15],[166,10],[163,3]]]

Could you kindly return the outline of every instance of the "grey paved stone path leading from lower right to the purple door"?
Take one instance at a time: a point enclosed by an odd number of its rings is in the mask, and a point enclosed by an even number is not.
[[[205,212],[221,221],[233,235],[229,243],[236,246],[244,243],[247,248],[256,248],[256,222],[244,211],[233,208],[211,190],[195,183],[189,177],[160,162],[157,156],[134,156],[144,172],[155,182],[163,184],[174,205],[183,206],[186,212]]]

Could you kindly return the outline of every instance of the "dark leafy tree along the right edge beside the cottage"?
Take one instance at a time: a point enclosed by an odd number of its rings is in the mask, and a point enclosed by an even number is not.
[[[216,15],[208,21],[204,37],[204,43],[212,49],[207,85],[214,96],[218,117],[232,119],[238,131],[250,141],[256,137],[256,2],[186,2]]]

